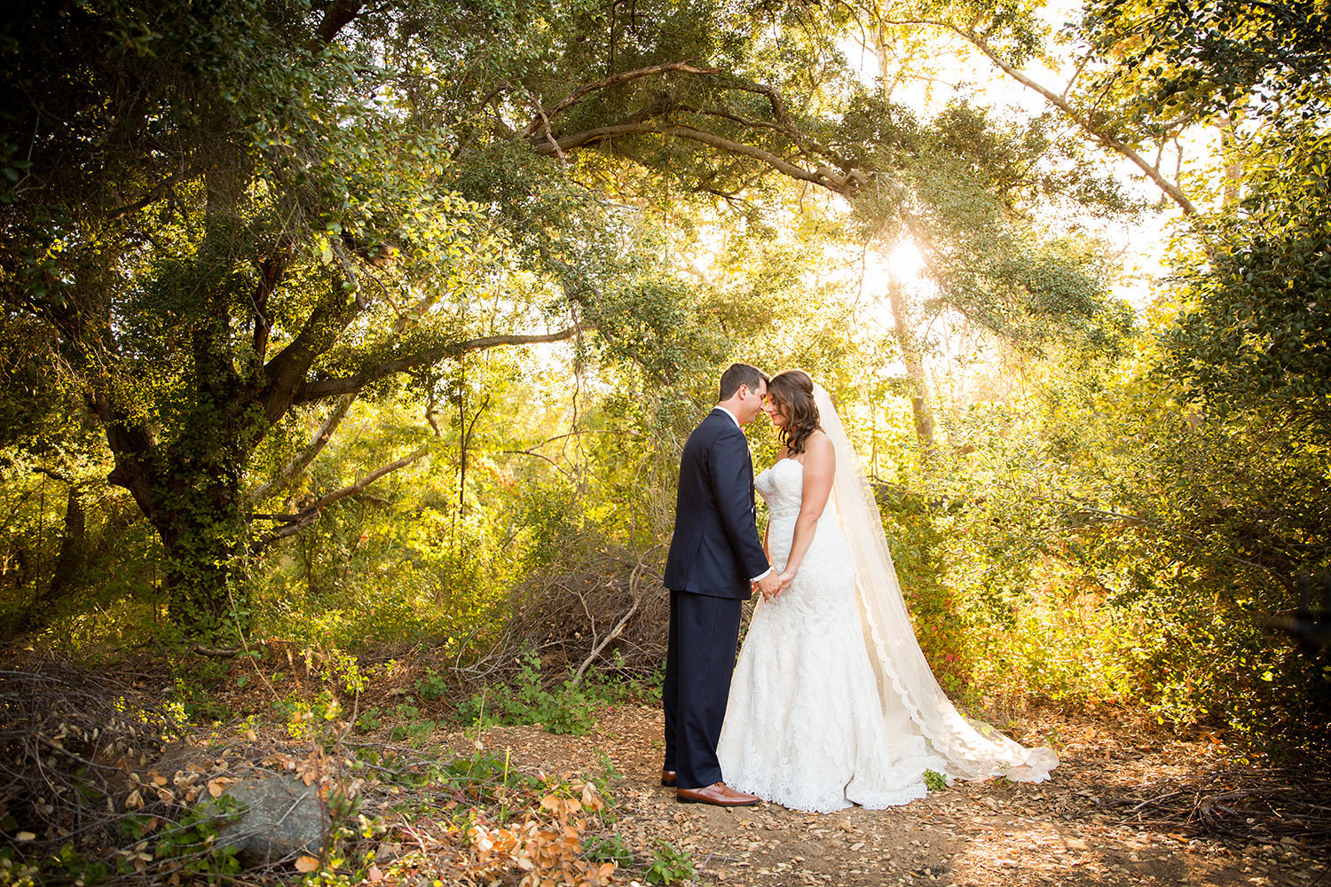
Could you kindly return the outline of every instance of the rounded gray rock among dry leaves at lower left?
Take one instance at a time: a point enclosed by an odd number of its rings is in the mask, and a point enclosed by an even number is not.
[[[318,786],[299,779],[244,779],[226,787],[228,805],[218,846],[236,847],[246,868],[270,866],[299,854],[318,856],[329,834],[327,807]]]

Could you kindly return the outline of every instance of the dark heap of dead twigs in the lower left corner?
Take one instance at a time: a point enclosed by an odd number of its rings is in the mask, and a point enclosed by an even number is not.
[[[13,650],[0,662],[0,835],[20,871],[45,867],[43,883],[188,880],[221,850],[208,840],[220,823],[196,802],[242,778],[337,775],[309,743],[265,747],[232,730],[224,745],[192,729],[161,702],[160,681]]]

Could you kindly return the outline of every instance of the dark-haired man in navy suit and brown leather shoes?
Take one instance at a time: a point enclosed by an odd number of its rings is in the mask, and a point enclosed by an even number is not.
[[[720,403],[688,436],[679,467],[675,536],[666,559],[666,766],[662,785],[681,803],[740,807],[757,797],[721,781],[716,742],[740,633],[740,608],[756,586],[781,590],[757,536],[753,460],[741,428],[763,408],[767,375],[747,363],[721,374]]]

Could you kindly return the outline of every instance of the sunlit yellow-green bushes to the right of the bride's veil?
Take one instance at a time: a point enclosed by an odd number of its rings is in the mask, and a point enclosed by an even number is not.
[[[933,459],[900,408],[874,438],[921,645],[970,702],[1146,706],[1326,742],[1324,665],[1262,629],[1326,568],[1324,444],[1262,416],[1199,420],[1126,370],[958,410],[946,432],[968,445]]]

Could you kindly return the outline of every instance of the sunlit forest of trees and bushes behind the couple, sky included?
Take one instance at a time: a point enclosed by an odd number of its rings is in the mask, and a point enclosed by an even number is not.
[[[1266,620],[1331,567],[1328,45],[1324,0],[20,4],[0,634],[201,718],[274,638],[471,717],[650,693],[744,359],[833,394],[970,710],[1316,754]]]

